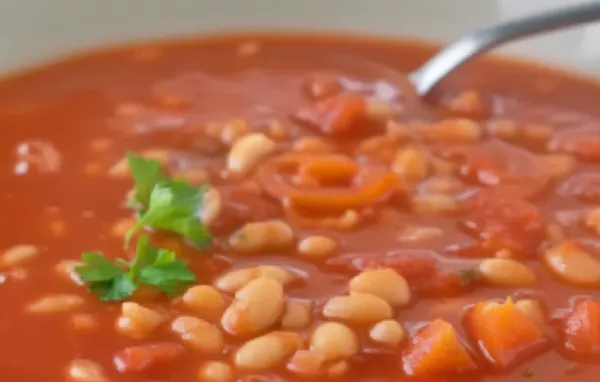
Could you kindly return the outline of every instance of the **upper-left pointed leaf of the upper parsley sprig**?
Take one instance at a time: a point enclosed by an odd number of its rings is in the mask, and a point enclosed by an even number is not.
[[[148,205],[154,187],[157,184],[168,182],[169,177],[164,173],[160,162],[156,159],[128,153],[127,165],[135,181],[134,198],[129,202],[129,205],[138,211],[142,211],[144,206]]]

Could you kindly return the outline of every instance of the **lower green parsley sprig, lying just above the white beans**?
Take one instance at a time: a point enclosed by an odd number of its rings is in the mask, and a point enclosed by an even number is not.
[[[89,290],[102,301],[119,301],[133,294],[141,285],[154,286],[171,296],[196,276],[175,253],[150,245],[147,236],[139,238],[133,261],[116,259],[111,262],[98,252],[81,255],[84,265],[75,271]]]

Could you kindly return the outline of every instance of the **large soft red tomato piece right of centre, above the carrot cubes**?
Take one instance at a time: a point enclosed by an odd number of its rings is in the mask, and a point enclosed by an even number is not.
[[[468,202],[470,214],[462,228],[480,240],[483,250],[532,256],[546,235],[539,209],[518,198],[503,196],[494,190],[474,195]]]

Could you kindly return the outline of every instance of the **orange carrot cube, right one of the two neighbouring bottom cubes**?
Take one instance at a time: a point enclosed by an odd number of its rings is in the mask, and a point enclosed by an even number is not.
[[[466,326],[481,354],[499,369],[521,363],[548,349],[550,340],[536,321],[509,298],[484,301],[466,316]]]

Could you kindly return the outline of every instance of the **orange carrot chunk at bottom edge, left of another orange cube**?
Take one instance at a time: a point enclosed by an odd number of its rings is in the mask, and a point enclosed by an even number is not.
[[[409,376],[435,376],[470,372],[477,366],[452,325],[435,320],[411,339],[403,368]]]

